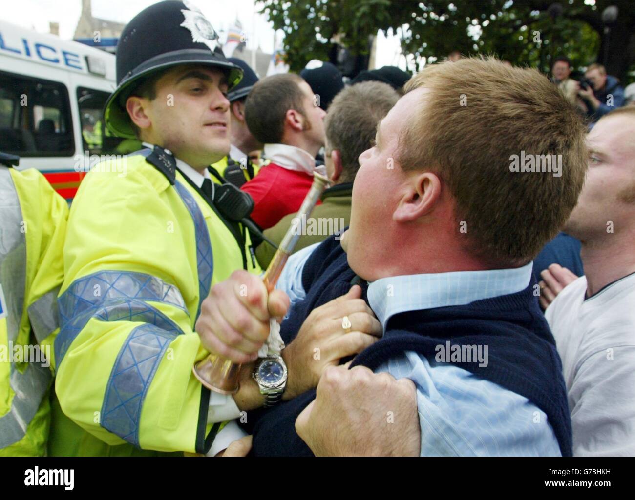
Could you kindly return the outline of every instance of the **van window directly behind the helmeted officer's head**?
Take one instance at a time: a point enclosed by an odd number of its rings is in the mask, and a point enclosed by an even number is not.
[[[77,87],[83,150],[90,154],[126,154],[139,150],[140,141],[117,137],[105,126],[104,106],[109,96],[101,90]]]

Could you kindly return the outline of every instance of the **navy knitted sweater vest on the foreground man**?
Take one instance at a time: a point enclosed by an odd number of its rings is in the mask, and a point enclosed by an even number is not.
[[[347,293],[356,275],[346,254],[333,237],[321,244],[304,267],[302,282],[307,296],[293,306],[281,326],[290,343],[311,310]],[[533,284],[533,283],[532,283]],[[522,395],[547,414],[563,456],[572,455],[571,419],[565,381],[554,338],[532,284],[525,290],[468,305],[399,313],[389,319],[384,336],[361,352],[352,365],[371,370],[406,351],[434,360],[436,346],[488,345],[488,365],[455,362],[477,376]],[[364,299],[366,291],[364,289]],[[307,391],[271,409],[249,412],[246,430],[253,433],[255,456],[311,456],[295,432],[295,419],[315,398]]]

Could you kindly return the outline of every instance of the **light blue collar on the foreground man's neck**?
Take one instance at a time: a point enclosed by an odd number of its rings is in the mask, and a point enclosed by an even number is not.
[[[397,313],[457,306],[524,290],[533,262],[514,269],[413,274],[378,279],[368,285],[368,303],[385,329]]]

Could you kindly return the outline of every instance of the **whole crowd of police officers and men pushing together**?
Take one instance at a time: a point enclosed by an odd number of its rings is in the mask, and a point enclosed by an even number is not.
[[[460,55],[259,79],[192,9],[126,25],[104,119],[144,148],[70,213],[0,158],[3,341],[50,360],[0,363],[0,454],[635,455],[617,80]],[[317,174],[318,230],[267,289]],[[236,390],[194,374],[210,353]]]

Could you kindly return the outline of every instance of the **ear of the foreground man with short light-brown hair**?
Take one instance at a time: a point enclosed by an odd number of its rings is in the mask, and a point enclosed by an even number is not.
[[[406,181],[406,192],[392,214],[396,222],[411,222],[432,213],[441,197],[441,180],[432,172],[413,174]]]

